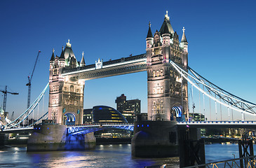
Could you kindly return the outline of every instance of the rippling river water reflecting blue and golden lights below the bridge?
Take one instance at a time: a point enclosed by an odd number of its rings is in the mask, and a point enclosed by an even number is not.
[[[255,146],[254,146],[255,148]],[[145,167],[168,164],[179,158],[133,158],[130,144],[100,145],[93,151],[27,153],[26,147],[0,149],[0,167]],[[238,144],[206,144],[206,162],[238,158]]]

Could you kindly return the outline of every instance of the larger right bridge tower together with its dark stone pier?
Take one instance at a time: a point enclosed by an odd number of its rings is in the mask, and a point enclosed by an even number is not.
[[[188,117],[187,82],[171,66],[170,60],[187,71],[187,39],[183,29],[179,42],[166,12],[160,31],[156,30],[154,36],[149,23],[146,41],[148,120],[135,122],[132,155],[142,158],[177,156],[179,141],[187,137],[186,130],[177,130],[177,120]]]

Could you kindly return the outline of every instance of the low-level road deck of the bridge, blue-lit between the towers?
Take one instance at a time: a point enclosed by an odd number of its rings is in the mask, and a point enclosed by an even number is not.
[[[184,121],[177,122],[178,127],[196,127],[196,128],[252,128],[256,129],[256,121]],[[143,127],[142,125],[136,125]],[[144,125],[150,127],[150,125]],[[40,127],[17,127],[17,128],[4,128],[0,133],[18,133],[18,132],[32,132],[34,129]],[[68,134],[87,134],[89,132],[96,132],[99,130],[130,130],[133,131],[133,123],[88,123],[83,125],[67,125]]]

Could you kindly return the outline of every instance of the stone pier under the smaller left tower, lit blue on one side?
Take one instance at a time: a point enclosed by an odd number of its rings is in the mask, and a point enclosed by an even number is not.
[[[66,125],[39,125],[27,141],[27,151],[83,151],[95,144],[93,133],[68,135]]]

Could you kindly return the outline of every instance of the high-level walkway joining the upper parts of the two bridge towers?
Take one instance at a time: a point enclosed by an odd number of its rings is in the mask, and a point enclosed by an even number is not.
[[[91,80],[95,78],[105,78],[109,76],[118,76],[127,73],[135,73],[147,70],[147,55],[135,55],[122,57],[121,59],[109,60],[103,62],[101,68],[96,69],[95,64],[79,66],[74,69],[63,69],[62,76]]]

